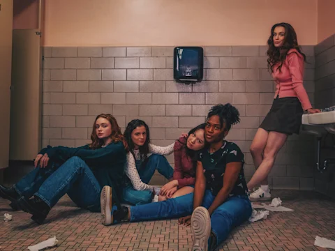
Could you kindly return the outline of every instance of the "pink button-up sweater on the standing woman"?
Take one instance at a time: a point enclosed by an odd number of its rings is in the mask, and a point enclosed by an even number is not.
[[[278,63],[279,66],[279,63]],[[274,66],[272,77],[276,81],[274,98],[297,97],[302,108],[306,111],[312,108],[307,92],[302,84],[304,77],[304,57],[296,50],[291,49],[281,67],[281,72]]]

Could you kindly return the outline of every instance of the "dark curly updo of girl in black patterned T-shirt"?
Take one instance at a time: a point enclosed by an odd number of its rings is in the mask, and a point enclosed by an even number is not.
[[[207,120],[214,115],[219,117],[221,128],[223,127],[223,123],[225,123],[225,130],[228,131],[233,125],[239,123],[239,110],[230,105],[230,103],[211,107],[207,114]]]

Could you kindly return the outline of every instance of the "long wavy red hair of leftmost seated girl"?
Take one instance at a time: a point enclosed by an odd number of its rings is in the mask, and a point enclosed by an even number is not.
[[[114,116],[110,114],[100,114],[96,116],[96,120],[93,124],[93,129],[91,133],[91,140],[92,143],[89,144],[90,149],[99,149],[101,146],[103,146],[103,139],[99,139],[98,135],[96,135],[96,121],[100,118],[107,119],[107,121],[110,121],[110,125],[112,126],[112,133],[110,135],[110,138],[112,139],[112,142],[122,142],[124,144],[124,149],[128,152],[128,144],[126,142],[126,139],[124,139],[124,135],[121,133],[121,128],[119,127],[117,123],[117,119],[114,118]]]

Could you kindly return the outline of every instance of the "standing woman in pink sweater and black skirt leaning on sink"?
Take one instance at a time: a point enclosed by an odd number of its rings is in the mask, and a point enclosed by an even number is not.
[[[274,166],[276,154],[289,135],[299,134],[304,111],[320,112],[313,109],[304,89],[306,56],[298,45],[295,29],[287,23],[274,24],[267,44],[267,64],[276,82],[276,93],[272,107],[251,144],[250,151],[257,170],[248,182],[248,190],[261,184],[251,193],[252,201],[271,199],[267,176]]]

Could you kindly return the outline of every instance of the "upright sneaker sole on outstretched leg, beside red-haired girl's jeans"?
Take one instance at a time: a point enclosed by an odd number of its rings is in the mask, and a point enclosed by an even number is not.
[[[103,225],[112,225],[112,188],[108,185],[105,185],[101,190],[100,207]]]

